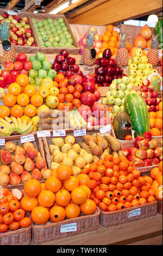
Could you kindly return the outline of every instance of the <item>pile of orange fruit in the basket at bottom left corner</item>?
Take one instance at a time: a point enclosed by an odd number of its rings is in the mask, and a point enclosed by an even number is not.
[[[7,230],[27,228],[31,223],[26,211],[8,188],[0,189],[0,233]]]

